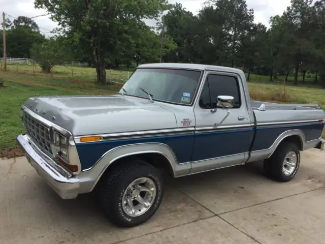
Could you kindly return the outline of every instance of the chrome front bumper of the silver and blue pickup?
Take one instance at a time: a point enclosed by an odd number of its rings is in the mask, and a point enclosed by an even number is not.
[[[73,199],[78,196],[80,187],[78,178],[72,177],[67,170],[43,155],[29,142],[27,135],[19,135],[17,141],[29,164],[62,199]]]

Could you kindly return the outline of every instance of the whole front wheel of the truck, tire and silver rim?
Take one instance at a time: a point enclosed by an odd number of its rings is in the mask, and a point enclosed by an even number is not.
[[[101,182],[98,197],[107,218],[122,227],[149,220],[164,193],[159,171],[141,160],[120,162]]]

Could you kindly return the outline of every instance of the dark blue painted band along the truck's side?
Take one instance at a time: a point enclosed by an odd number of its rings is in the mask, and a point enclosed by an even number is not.
[[[323,124],[279,125],[257,127],[252,150],[269,148],[284,131],[301,129],[306,140],[320,137]],[[209,158],[239,154],[248,151],[253,137],[253,128],[239,128],[222,131],[186,132],[170,135],[153,135],[140,138],[121,138],[77,144],[82,169],[92,167],[106,151],[118,146],[136,143],[164,143],[172,148],[178,163],[200,161]]]

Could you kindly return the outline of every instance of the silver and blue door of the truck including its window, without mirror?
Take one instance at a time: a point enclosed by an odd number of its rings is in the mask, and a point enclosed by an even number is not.
[[[240,76],[207,71],[202,82],[194,105],[196,128],[190,173],[242,164],[253,138]],[[218,96],[234,97],[233,107],[217,107]]]

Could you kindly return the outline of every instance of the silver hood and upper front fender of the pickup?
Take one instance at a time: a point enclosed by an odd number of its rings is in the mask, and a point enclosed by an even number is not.
[[[129,96],[36,97],[24,106],[74,136],[177,127],[170,110]]]

